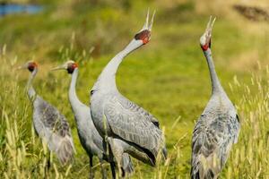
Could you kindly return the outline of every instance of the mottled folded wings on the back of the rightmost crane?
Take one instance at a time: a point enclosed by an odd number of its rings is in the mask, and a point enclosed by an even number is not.
[[[228,158],[232,143],[235,143],[238,137],[239,124],[237,123],[237,116],[201,115],[193,132],[193,163],[199,160],[199,155],[203,155],[204,158],[215,155],[220,159],[222,167]]]

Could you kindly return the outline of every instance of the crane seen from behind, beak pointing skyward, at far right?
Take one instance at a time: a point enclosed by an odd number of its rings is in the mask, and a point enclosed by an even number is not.
[[[239,115],[221,87],[214,69],[211,52],[212,17],[207,24],[200,45],[209,67],[212,96],[195,124],[192,139],[192,179],[217,178],[229,157],[233,143],[239,137]]]

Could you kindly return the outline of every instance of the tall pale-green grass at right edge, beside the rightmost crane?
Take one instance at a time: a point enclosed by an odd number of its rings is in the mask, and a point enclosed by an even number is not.
[[[269,68],[258,66],[249,83],[234,79],[233,92],[243,90],[238,104],[241,131],[225,178],[269,178]]]

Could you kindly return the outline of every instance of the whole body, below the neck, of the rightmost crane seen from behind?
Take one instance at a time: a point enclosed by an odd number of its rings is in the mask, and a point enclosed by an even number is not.
[[[192,178],[217,178],[238,135],[239,116],[229,98],[213,95],[195,124]]]

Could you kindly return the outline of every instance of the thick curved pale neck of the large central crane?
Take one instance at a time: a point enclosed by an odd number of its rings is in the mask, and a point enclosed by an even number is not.
[[[133,39],[124,50],[114,56],[101,72],[98,81],[94,84],[92,90],[101,90],[102,92],[117,91],[115,76],[119,64],[123,61],[126,55],[142,45],[143,43],[140,40]]]

